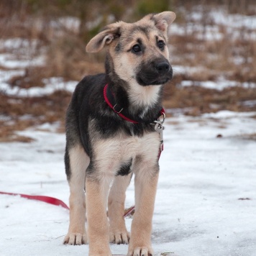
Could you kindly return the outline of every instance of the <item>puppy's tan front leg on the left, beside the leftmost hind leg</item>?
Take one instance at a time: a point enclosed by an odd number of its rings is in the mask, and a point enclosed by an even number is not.
[[[86,175],[86,206],[90,256],[109,256],[109,221],[106,216],[106,200],[109,178],[91,178]]]

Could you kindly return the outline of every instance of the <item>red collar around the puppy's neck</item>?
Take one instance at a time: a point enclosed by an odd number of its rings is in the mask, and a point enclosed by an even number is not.
[[[118,114],[120,117],[122,117],[122,119],[131,122],[133,124],[139,124],[142,123],[143,120],[140,118],[134,118],[134,116],[129,116],[129,114],[127,113],[127,111],[125,111],[125,109],[123,109],[122,107],[118,106],[118,104],[116,104],[116,101],[114,99],[114,95],[111,92],[109,85],[106,84],[106,86],[104,86],[104,99],[106,101],[106,104],[108,104],[111,109],[113,109],[116,114]],[[160,116],[162,116],[165,113],[165,109],[161,109],[159,111],[159,113],[157,114],[157,116],[155,117],[155,120],[157,120]],[[136,119],[136,120],[134,120]],[[155,120],[152,120],[151,123],[153,123]]]

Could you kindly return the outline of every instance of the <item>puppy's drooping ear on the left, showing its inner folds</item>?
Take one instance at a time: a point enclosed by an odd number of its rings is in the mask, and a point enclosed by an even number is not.
[[[109,24],[98,35],[93,37],[86,45],[86,52],[99,52],[105,45],[110,45],[116,37],[120,36],[121,22]]]

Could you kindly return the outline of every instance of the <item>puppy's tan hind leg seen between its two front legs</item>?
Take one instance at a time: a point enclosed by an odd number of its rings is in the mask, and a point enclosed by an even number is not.
[[[129,232],[127,232],[124,221],[124,200],[125,191],[129,186],[131,178],[132,173],[116,176],[109,192],[109,242],[115,244],[129,243]]]

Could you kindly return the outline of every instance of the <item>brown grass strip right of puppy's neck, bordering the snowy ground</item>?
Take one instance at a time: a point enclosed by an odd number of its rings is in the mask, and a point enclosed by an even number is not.
[[[175,79],[165,86],[166,109],[184,109],[185,114],[192,116],[219,110],[256,111],[256,104],[242,104],[256,99],[255,88],[230,87],[219,91],[201,86],[177,87],[173,83]]]

